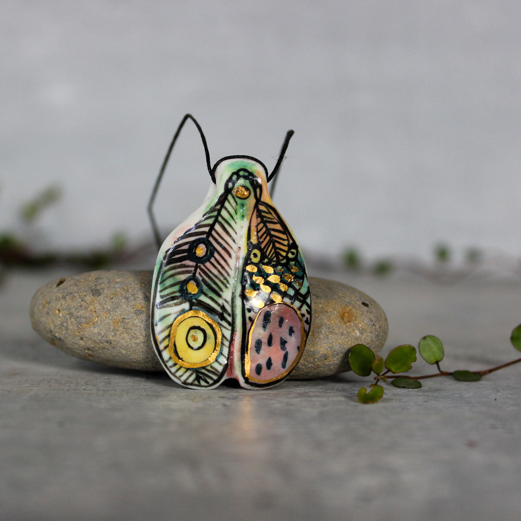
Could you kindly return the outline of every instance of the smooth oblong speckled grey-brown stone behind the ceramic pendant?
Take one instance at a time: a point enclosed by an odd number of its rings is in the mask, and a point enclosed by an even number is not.
[[[375,353],[388,323],[371,297],[346,284],[309,278],[313,321],[306,349],[290,378],[350,370],[350,348]],[[150,339],[152,271],[90,271],[42,286],[31,301],[34,330],[67,354],[98,364],[162,371]]]

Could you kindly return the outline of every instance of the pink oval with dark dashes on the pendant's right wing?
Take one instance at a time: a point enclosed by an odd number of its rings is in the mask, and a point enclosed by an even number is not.
[[[304,340],[300,313],[288,304],[266,306],[250,329],[246,351],[246,378],[269,383],[288,375],[302,355]]]

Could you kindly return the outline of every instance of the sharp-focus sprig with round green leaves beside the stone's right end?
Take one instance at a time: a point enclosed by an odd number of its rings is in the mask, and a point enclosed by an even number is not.
[[[521,352],[521,324],[512,331],[510,341],[514,348]],[[467,369],[444,371],[440,367],[440,362],[445,355],[443,344],[438,337],[432,334],[421,338],[418,342],[418,351],[425,362],[437,367],[438,373],[421,376],[404,376],[401,374],[411,370],[413,363],[416,362],[416,348],[411,344],[399,345],[391,349],[385,359],[375,355],[364,344],[354,345],[349,354],[349,364],[353,373],[364,377],[370,376],[371,373],[375,374],[375,383],[371,383],[369,389],[363,387],[358,391],[358,401],[360,403],[376,403],[381,400],[384,392],[381,383],[387,383],[388,380],[394,387],[402,389],[419,389],[422,387],[420,380],[440,376],[450,376],[461,382],[474,382],[494,371],[521,362],[521,358],[516,358],[511,362],[481,371],[469,371]]]

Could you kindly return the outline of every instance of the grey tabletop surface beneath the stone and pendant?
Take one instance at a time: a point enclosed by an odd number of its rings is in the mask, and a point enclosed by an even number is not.
[[[0,518],[521,518],[521,366],[477,383],[389,387],[370,406],[356,402],[352,374],[185,390],[36,336],[30,298],[66,274],[15,272],[0,288]],[[383,306],[388,348],[437,334],[447,369],[517,355],[519,280],[333,277]]]

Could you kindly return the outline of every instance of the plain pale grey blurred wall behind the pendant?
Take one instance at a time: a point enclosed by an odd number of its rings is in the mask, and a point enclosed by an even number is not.
[[[304,250],[519,255],[517,2],[4,1],[0,229],[38,247],[151,239],[145,207],[182,116],[212,162],[274,166]],[[157,203],[165,232],[207,191],[187,126]],[[20,205],[63,191],[36,225]]]

